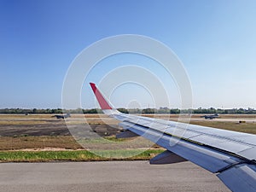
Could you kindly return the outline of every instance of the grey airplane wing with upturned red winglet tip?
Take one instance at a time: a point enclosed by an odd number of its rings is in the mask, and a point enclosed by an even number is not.
[[[117,137],[142,136],[166,151],[151,164],[189,160],[216,173],[232,191],[256,191],[256,135],[120,113],[90,83],[103,113],[124,127]]]

